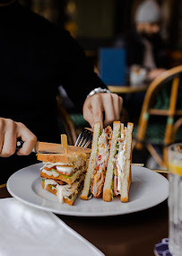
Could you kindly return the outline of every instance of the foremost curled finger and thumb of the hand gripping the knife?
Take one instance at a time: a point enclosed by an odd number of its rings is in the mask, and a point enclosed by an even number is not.
[[[37,137],[26,128],[22,123],[17,124],[17,137],[22,137],[24,142],[22,148],[17,151],[18,155],[28,155],[32,152],[33,147],[36,145]]]

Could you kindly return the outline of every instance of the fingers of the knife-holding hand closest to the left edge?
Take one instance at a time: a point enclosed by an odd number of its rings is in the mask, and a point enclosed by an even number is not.
[[[16,125],[12,119],[0,119],[0,156],[8,157],[16,151]]]

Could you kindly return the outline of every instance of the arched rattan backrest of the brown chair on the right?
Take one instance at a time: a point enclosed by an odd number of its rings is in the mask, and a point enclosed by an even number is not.
[[[174,142],[174,118],[180,118],[182,116],[182,98],[179,99],[179,96],[182,93],[182,84],[179,84],[181,76],[182,66],[176,66],[159,75],[152,81],[152,84],[150,84],[144,97],[143,108],[136,133],[136,139],[138,142],[135,147],[137,149],[141,149],[143,146],[150,115],[163,116],[167,118],[163,144],[168,146]],[[169,95],[168,93],[164,93],[162,96],[163,103],[156,104],[163,89],[168,90]]]

